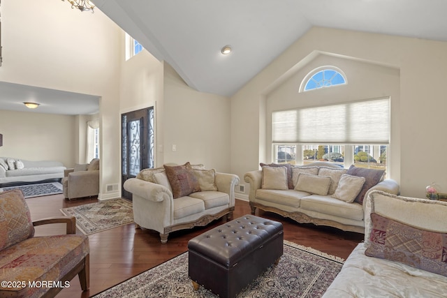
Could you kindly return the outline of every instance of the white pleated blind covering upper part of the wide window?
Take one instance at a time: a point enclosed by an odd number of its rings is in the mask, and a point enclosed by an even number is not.
[[[272,142],[389,144],[390,98],[273,112]]]

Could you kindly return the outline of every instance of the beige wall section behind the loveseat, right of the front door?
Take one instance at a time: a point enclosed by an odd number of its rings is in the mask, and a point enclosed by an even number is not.
[[[163,162],[230,170],[230,100],[188,87],[165,64]],[[173,151],[173,145],[177,147]],[[160,152],[159,152],[160,154]]]

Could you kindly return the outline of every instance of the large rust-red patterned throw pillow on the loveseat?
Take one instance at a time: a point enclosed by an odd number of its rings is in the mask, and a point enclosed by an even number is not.
[[[196,176],[194,176],[190,163],[184,165],[163,165],[168,176],[170,187],[173,188],[173,197],[180,198],[190,193],[200,191]]]

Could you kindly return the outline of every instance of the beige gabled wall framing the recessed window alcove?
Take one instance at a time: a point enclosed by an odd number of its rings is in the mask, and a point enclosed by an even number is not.
[[[256,170],[259,161],[266,160],[260,149],[268,144],[262,140],[267,129],[260,121],[265,94],[318,52],[400,71],[400,103],[392,107],[390,141],[390,158],[400,159],[400,163],[393,165],[391,177],[400,181],[403,195],[423,197],[425,186],[432,181],[447,192],[447,160],[442,158],[447,145],[443,133],[447,100],[442,82],[447,77],[447,43],[318,27],[310,29],[232,96],[231,150],[243,147],[252,152],[250,156],[232,154],[232,171],[243,177],[244,172]],[[388,93],[384,84],[381,82],[374,92]]]

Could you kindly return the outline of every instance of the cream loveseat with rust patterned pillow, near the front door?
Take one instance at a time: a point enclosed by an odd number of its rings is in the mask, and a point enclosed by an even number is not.
[[[156,230],[164,244],[170,232],[232,218],[239,181],[235,174],[186,163],[142,170],[124,189],[132,193],[137,227]]]

